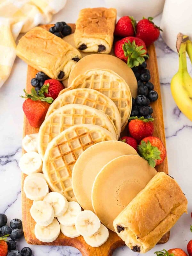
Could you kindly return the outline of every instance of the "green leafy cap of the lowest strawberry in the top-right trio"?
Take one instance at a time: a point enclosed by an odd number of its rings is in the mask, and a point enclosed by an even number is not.
[[[124,55],[127,57],[127,65],[130,68],[137,67],[145,61],[144,57],[147,57],[147,55],[143,48],[143,45],[136,45],[135,40],[132,42],[128,40],[124,43]]]

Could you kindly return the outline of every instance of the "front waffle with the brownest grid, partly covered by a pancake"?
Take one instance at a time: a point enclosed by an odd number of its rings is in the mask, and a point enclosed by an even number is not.
[[[51,190],[76,201],[71,174],[77,158],[88,147],[107,140],[116,140],[116,136],[93,124],[77,124],[57,135],[48,144],[43,161],[44,177]]]

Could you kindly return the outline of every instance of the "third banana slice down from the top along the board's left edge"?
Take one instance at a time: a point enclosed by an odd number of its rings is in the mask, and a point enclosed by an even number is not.
[[[29,175],[24,180],[23,190],[27,198],[35,201],[43,200],[49,193],[47,182],[43,178],[34,175]]]

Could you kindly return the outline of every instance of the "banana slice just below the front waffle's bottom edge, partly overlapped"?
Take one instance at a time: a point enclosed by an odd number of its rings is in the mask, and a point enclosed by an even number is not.
[[[55,218],[63,215],[68,209],[67,199],[58,192],[47,194],[43,200],[52,205]]]

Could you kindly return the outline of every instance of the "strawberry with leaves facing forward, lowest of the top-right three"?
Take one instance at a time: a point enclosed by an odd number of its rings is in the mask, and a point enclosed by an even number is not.
[[[114,52],[116,57],[126,62],[130,68],[139,66],[145,61],[144,57],[148,57],[145,43],[134,36],[128,36],[117,41]]]

